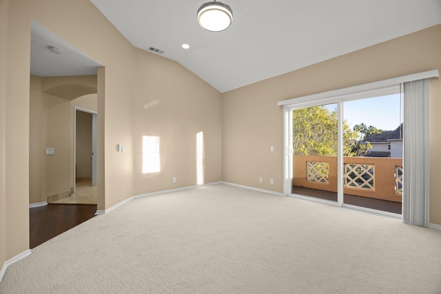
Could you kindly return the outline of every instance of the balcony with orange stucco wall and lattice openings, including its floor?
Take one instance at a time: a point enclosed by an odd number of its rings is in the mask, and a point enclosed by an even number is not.
[[[294,156],[292,192],[337,201],[337,157]],[[347,157],[344,203],[401,214],[402,158]]]

